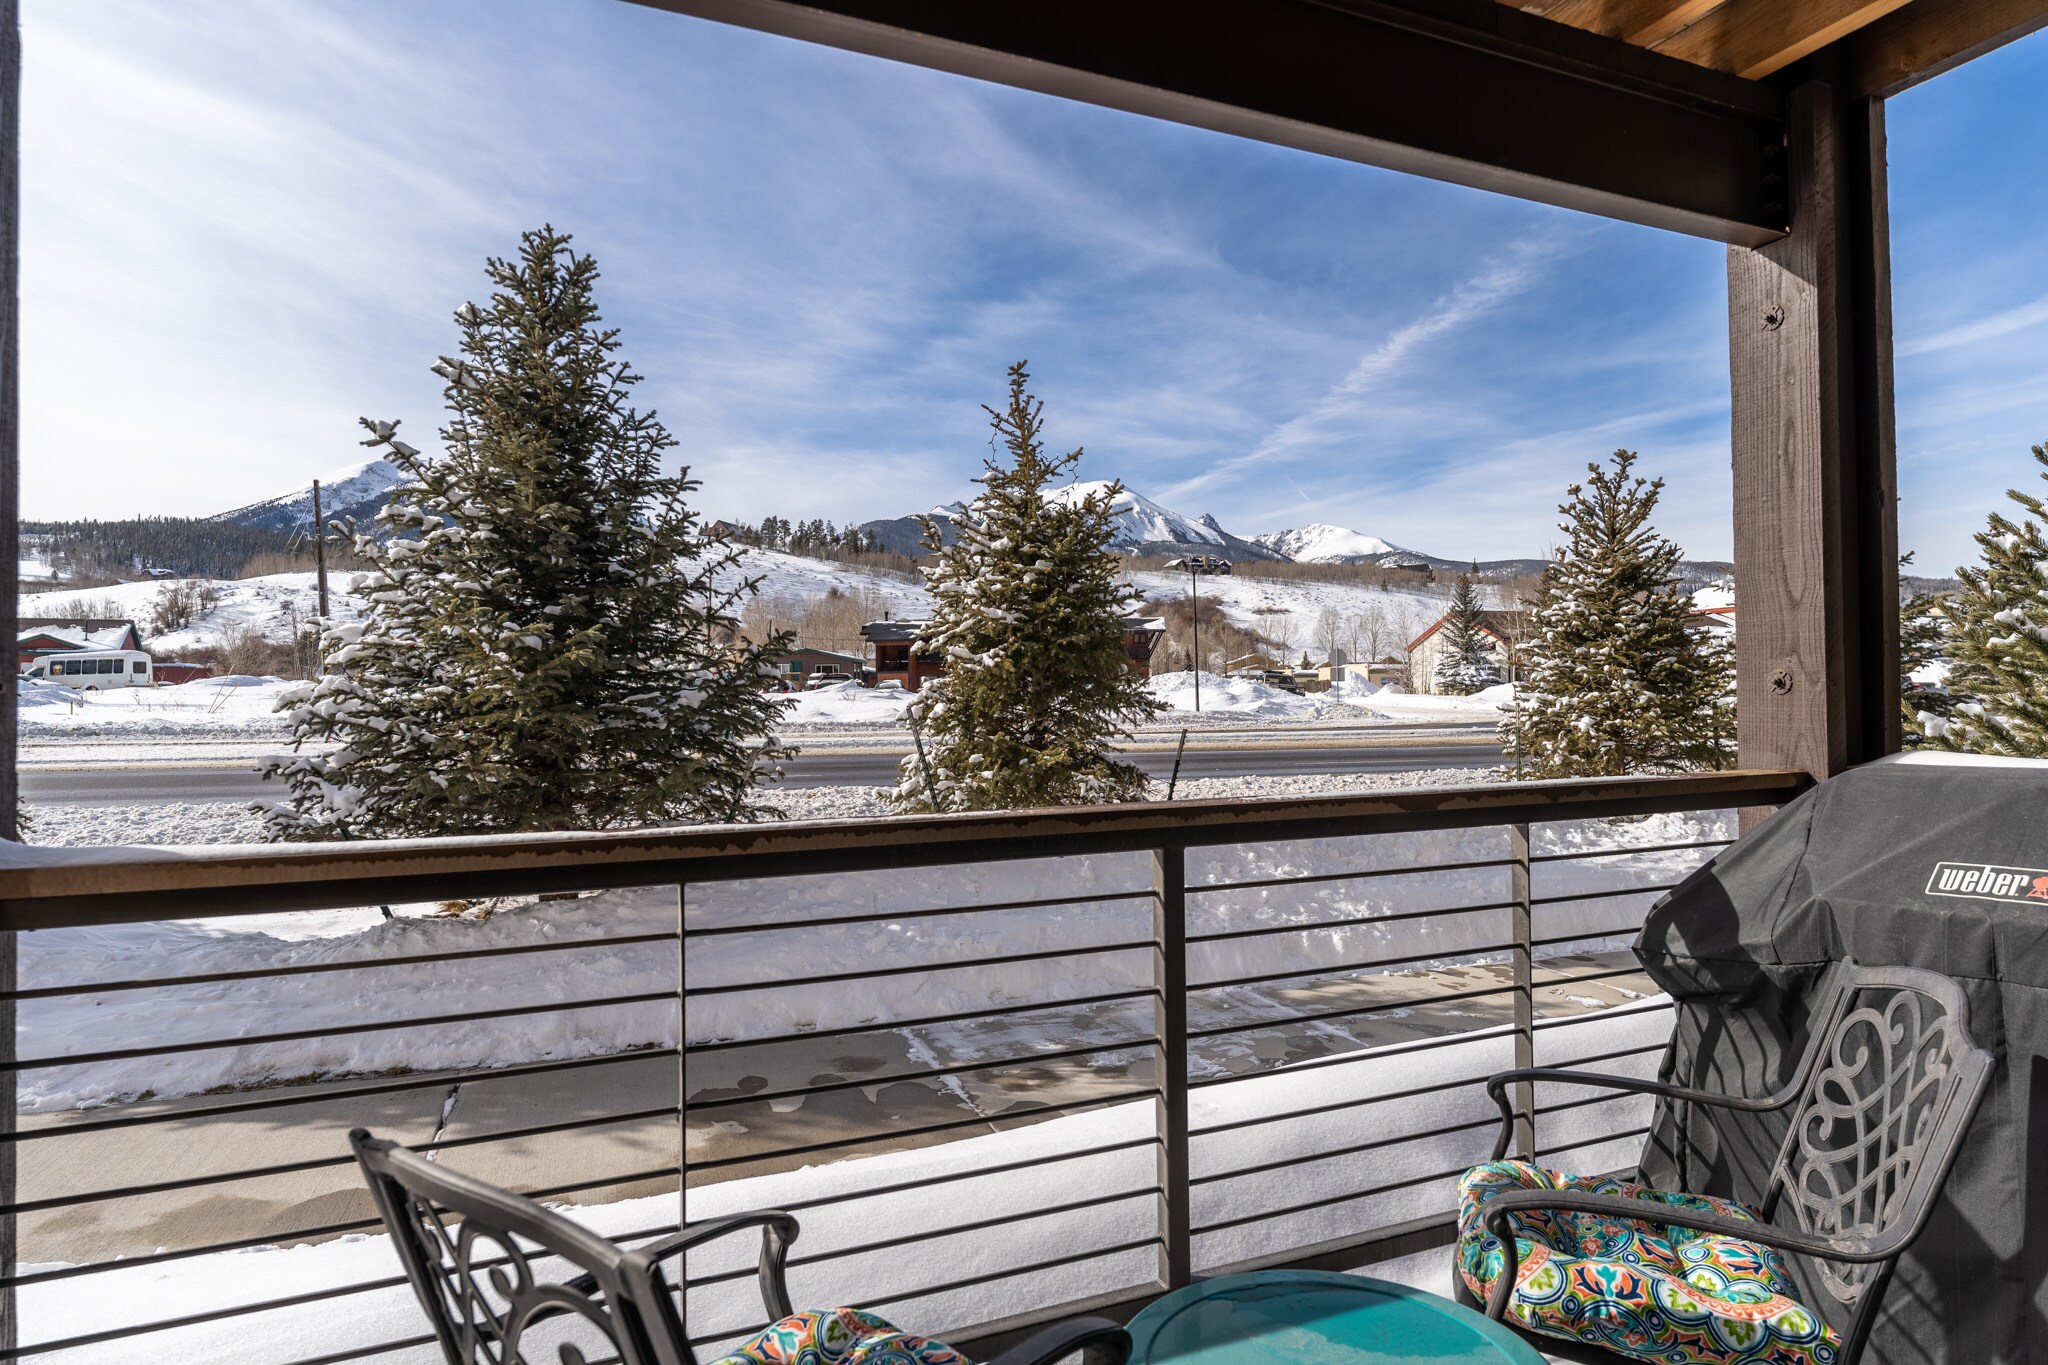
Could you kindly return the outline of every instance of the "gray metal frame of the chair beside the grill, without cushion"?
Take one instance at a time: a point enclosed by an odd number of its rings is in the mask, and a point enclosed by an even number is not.
[[[1962,986],[1921,968],[1839,962],[1817,993],[1806,1048],[1792,1078],[1761,1099],[1714,1095],[1661,1081],[1526,1068],[1487,1081],[1501,1109],[1493,1158],[1507,1152],[1507,1091],[1550,1081],[1657,1095],[1675,1105],[1786,1113],[1788,1128],[1757,1214],[1739,1222],[1675,1207],[1647,1216],[1636,1199],[1575,1191],[1513,1191],[1487,1203],[1495,1236],[1507,1216],[1532,1209],[1608,1214],[1761,1242],[1808,1259],[1808,1291],[1833,1297],[1847,1320],[1839,1365],[1855,1365],[1901,1252],[1927,1226],[1991,1083],[1993,1058],[1970,1036]],[[1786,1226],[1790,1224],[1790,1226]],[[1513,1289],[1509,1267],[1487,1314],[1499,1318]],[[1815,1283],[1817,1281],[1817,1283]]]

